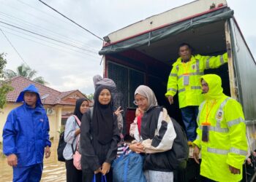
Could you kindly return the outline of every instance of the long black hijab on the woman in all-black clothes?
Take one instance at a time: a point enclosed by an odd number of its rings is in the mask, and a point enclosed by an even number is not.
[[[112,97],[108,105],[99,103],[99,94],[102,90],[110,88],[105,85],[100,85],[94,93],[94,111],[92,114],[92,128],[94,136],[99,143],[103,145],[109,143],[113,138],[113,123],[114,116],[112,110]],[[111,92],[110,92],[111,94]]]

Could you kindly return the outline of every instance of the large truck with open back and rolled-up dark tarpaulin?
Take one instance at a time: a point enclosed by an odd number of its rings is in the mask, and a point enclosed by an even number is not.
[[[104,76],[116,82],[125,98],[124,132],[129,134],[129,124],[135,118],[134,92],[140,84],[151,87],[159,105],[165,106],[170,116],[183,125],[177,95],[172,105],[165,98],[168,76],[178,58],[178,45],[182,42],[192,45],[194,55],[222,55],[227,52],[228,63],[217,69],[208,69],[205,74],[221,76],[225,95],[241,103],[248,155],[251,154],[256,149],[256,84],[253,84],[256,63],[233,9],[225,0],[192,1],[104,37],[99,55],[103,56]],[[178,181],[198,178],[198,171],[199,167],[189,159],[187,170],[178,175]],[[252,180],[254,178],[255,175]]]

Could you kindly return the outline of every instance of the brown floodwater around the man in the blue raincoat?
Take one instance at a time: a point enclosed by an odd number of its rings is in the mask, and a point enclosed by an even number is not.
[[[59,162],[57,157],[58,141],[53,141],[50,148],[50,157],[44,159],[41,181],[66,181],[65,162]],[[7,165],[7,158],[0,157],[0,181],[12,181],[12,167]]]

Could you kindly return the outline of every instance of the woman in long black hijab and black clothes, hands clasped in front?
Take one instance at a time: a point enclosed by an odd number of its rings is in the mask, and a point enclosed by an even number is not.
[[[110,88],[101,85],[94,93],[93,110],[83,114],[80,127],[83,181],[91,182],[94,174],[96,181],[100,181],[101,175],[105,175],[107,181],[112,181],[110,165],[116,158],[120,138],[111,104]]]

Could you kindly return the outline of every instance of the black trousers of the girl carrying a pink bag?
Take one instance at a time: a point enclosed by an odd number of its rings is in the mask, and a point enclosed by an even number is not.
[[[67,182],[82,182],[83,172],[73,165],[73,159],[66,161]]]

